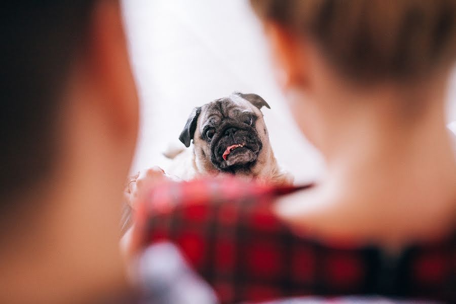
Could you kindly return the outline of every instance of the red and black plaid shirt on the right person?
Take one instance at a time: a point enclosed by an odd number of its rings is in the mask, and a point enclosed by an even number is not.
[[[302,188],[234,178],[169,182],[150,189],[137,221],[146,244],[176,244],[222,303],[311,294],[456,300],[454,237],[392,256],[297,236],[271,206]]]

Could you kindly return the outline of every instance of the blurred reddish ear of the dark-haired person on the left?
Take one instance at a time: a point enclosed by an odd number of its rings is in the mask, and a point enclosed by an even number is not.
[[[101,98],[97,99],[121,140],[136,140],[138,96],[130,66],[119,1],[97,1],[89,29],[88,61]]]

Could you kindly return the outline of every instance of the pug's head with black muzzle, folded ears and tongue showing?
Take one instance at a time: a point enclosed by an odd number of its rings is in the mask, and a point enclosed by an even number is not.
[[[256,94],[214,100],[193,110],[179,139],[187,147],[193,139],[202,169],[249,174],[261,161],[263,148],[269,148],[263,106],[270,108]]]

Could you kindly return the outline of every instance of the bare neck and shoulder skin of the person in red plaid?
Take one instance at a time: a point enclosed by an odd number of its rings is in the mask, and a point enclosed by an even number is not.
[[[326,96],[310,139],[326,159],[326,174],[275,209],[296,231],[391,249],[452,232],[456,161],[445,84],[414,94],[386,88],[320,92]]]

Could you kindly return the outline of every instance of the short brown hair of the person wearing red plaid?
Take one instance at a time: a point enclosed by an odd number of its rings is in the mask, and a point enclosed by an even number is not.
[[[250,0],[260,18],[306,35],[352,79],[411,80],[451,67],[454,0]]]

